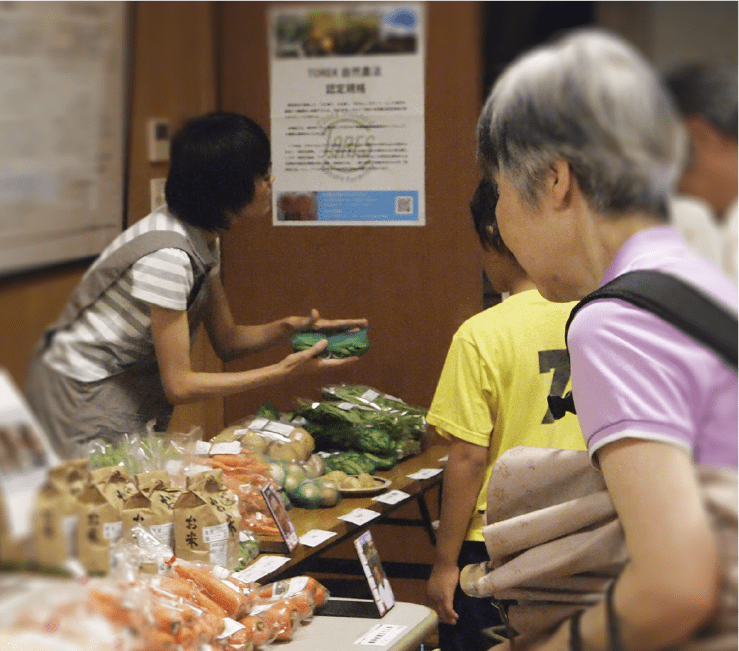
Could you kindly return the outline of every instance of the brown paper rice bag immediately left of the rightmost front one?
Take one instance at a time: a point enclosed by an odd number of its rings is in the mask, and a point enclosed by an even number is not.
[[[134,542],[131,530],[144,527],[174,550],[174,505],[182,491],[172,487],[166,470],[139,473],[135,482],[137,491],[126,500],[121,511],[123,539]]]

